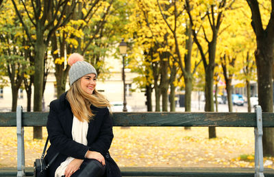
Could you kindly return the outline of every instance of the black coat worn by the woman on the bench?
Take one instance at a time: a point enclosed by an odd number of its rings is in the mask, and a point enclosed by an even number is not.
[[[73,113],[71,106],[66,99],[66,93],[59,99],[55,99],[49,105],[49,117],[47,120],[47,131],[51,145],[47,150],[45,160],[49,162],[51,158],[60,152],[58,157],[49,167],[49,176],[54,176],[55,170],[67,157],[84,159],[88,150],[100,152],[105,158],[105,176],[119,177],[121,172],[108,152],[113,139],[112,119],[108,108],[97,108],[90,106],[95,117],[88,123],[88,145],[83,145],[73,141],[71,134],[73,126]]]

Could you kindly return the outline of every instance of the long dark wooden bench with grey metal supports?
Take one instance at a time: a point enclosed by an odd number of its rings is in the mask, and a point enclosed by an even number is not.
[[[21,106],[16,113],[0,113],[0,126],[16,126],[18,137],[17,169],[0,169],[0,176],[33,175],[32,168],[25,168],[24,127],[46,126],[48,114],[22,113]],[[260,106],[256,113],[113,113],[112,117],[114,126],[254,127],[256,137],[255,168],[121,167],[123,176],[274,176],[273,169],[264,169],[262,158],[262,127],[274,127],[274,113],[262,113]]]

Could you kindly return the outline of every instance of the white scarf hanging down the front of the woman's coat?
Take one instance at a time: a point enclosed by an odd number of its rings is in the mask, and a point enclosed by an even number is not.
[[[88,145],[88,140],[86,135],[88,134],[88,122],[86,120],[79,121],[75,115],[73,115],[73,128],[71,130],[73,135],[73,140],[77,143],[82,143],[83,145]],[[73,157],[69,156],[66,161],[62,162],[60,166],[55,171],[55,177],[61,177],[64,175],[66,167],[73,161]]]

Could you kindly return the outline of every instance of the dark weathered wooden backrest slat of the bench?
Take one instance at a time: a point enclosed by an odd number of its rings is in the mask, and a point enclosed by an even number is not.
[[[23,126],[45,126],[49,113],[23,113]],[[256,127],[256,113],[113,113],[114,126]],[[274,113],[262,113],[263,127],[274,127]],[[16,113],[0,113],[0,126],[16,126]]]

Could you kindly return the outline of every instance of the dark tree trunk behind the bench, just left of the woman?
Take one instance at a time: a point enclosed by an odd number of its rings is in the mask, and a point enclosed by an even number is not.
[[[40,25],[40,21],[38,24]],[[36,28],[36,44],[35,44],[35,73],[34,73],[34,112],[42,111],[42,91],[44,80],[44,60],[46,45],[43,39],[43,29]],[[34,127],[34,139],[42,139],[42,127]]]

